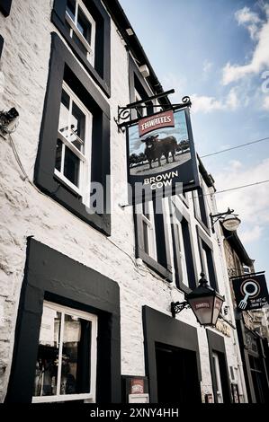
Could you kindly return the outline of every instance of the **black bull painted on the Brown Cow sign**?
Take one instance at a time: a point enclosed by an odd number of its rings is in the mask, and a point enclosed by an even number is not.
[[[177,142],[175,136],[167,136],[164,139],[158,139],[157,136],[148,136],[146,139],[141,140],[145,142],[145,155],[148,158],[149,169],[152,169],[152,162],[158,161],[159,167],[163,155],[166,157],[166,163],[169,163],[169,154],[172,154],[173,162],[175,162],[175,153]]]

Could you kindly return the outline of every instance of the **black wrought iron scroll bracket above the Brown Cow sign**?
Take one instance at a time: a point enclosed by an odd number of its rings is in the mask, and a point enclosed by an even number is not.
[[[166,97],[167,95],[169,95],[171,93],[175,93],[175,90],[161,92],[157,95],[153,95],[152,97],[148,97],[146,100],[131,102],[126,107],[118,106],[118,117],[117,117],[117,119],[114,118],[114,121],[118,126],[119,132],[124,132],[125,127],[132,126],[132,125],[138,123],[138,121],[143,118],[141,110],[144,110],[144,109],[145,110],[148,110],[148,109],[156,110],[156,109],[161,109],[161,108],[164,108],[164,110],[166,110],[166,111],[167,110],[180,110],[180,109],[184,109],[185,107],[191,107],[192,106],[192,101],[191,101],[190,97],[188,97],[188,96],[183,97],[182,102],[177,103],[177,104],[171,104],[171,103],[170,104],[164,104],[164,105],[162,105],[162,104],[158,104],[158,105],[152,104],[153,100],[157,100],[159,98]],[[136,110],[139,118],[131,119],[131,111],[132,110]],[[153,114],[154,113],[151,113],[151,114],[147,113],[147,117],[150,117],[150,115],[153,115]]]

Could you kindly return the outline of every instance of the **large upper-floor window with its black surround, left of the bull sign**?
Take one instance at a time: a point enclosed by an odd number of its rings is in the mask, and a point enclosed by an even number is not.
[[[47,90],[35,182],[69,211],[110,235],[110,107],[55,33]],[[99,183],[99,204],[92,203],[93,182]]]

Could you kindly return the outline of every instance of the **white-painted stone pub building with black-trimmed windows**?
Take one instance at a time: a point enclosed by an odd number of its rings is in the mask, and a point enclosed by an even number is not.
[[[152,202],[137,214],[119,206],[118,107],[163,92],[121,5],[2,1],[0,11],[0,109],[20,113],[0,137],[1,400],[246,402],[211,175],[198,160],[201,188],[164,199],[163,214]],[[111,214],[88,212],[92,182]],[[190,309],[171,315],[202,271],[225,295],[215,329]]]

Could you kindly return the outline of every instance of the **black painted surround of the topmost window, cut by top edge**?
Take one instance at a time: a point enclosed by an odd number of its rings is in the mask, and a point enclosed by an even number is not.
[[[94,66],[90,64],[76,40],[71,38],[66,23],[67,0],[55,0],[51,14],[51,21],[67,40],[76,57],[83,64],[86,71],[100,86],[105,94],[111,94],[111,20],[100,0],[84,1],[89,13],[96,23]]]

